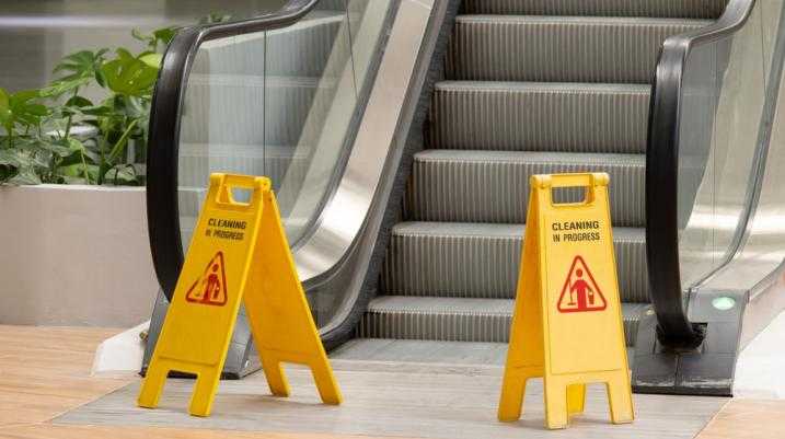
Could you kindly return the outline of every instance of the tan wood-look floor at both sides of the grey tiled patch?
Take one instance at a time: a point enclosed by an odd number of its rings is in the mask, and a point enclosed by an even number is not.
[[[0,325],[0,438],[337,438],[331,435],[50,423],[53,418],[136,380],[132,376],[90,377],[95,347],[116,332]],[[785,434],[780,423],[784,418],[785,401],[732,400],[699,438],[783,438]],[[362,438],[368,439],[367,436]]]

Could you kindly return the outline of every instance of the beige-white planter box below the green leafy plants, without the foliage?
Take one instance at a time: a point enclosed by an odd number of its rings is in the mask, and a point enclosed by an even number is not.
[[[0,324],[130,327],[157,291],[143,188],[0,187]]]

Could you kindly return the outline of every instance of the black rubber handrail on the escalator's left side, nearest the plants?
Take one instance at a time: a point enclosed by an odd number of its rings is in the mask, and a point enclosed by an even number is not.
[[[171,300],[183,267],[177,203],[180,120],[191,68],[203,43],[290,26],[320,0],[290,0],[277,12],[231,23],[180,31],[163,57],[150,113],[147,160],[147,219],[152,262],[159,284]]]

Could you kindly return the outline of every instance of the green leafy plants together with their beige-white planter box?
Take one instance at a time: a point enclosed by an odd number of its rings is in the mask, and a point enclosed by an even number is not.
[[[131,326],[158,290],[145,160],[166,27],[82,50],[38,90],[0,89],[0,324]],[[105,92],[101,102],[84,96]]]

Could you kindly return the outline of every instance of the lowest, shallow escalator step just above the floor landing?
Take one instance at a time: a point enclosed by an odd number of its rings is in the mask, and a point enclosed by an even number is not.
[[[509,342],[512,299],[380,296],[360,320],[357,336],[445,342]],[[622,303],[627,346],[645,303]]]

